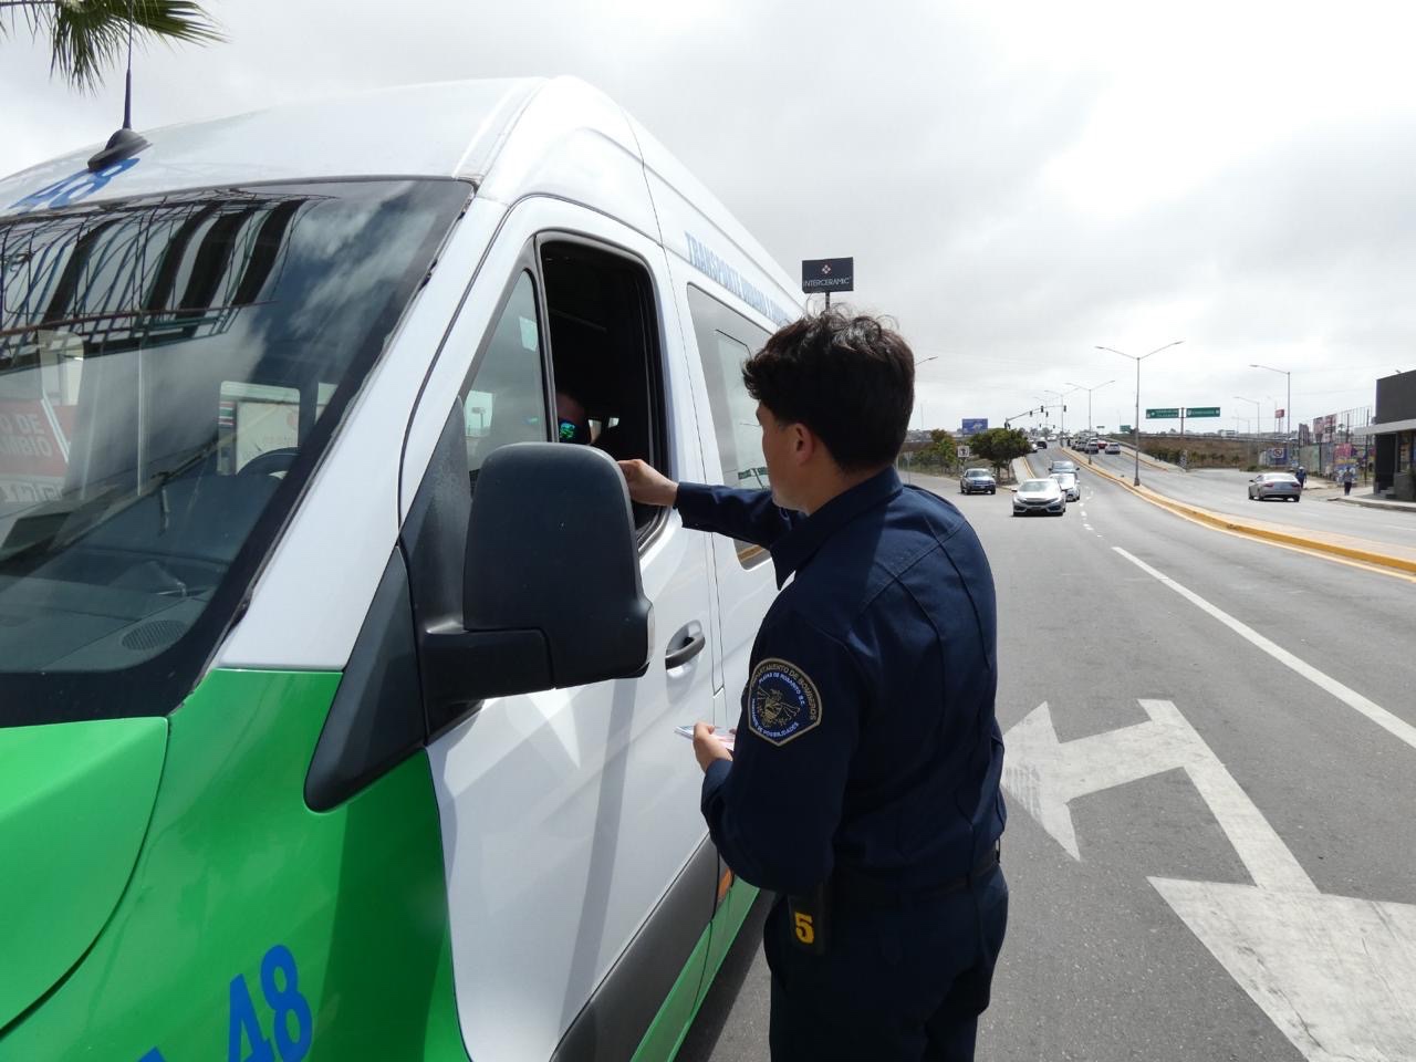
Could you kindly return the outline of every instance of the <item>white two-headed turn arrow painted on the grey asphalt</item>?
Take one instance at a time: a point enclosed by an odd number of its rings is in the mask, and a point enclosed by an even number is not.
[[[1038,705],[1004,736],[1004,787],[1080,860],[1072,800],[1182,769],[1253,885],[1151,885],[1310,1062],[1416,1062],[1416,906],[1318,892],[1180,709],[1140,705],[1147,722],[1069,742]]]

